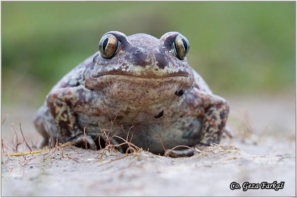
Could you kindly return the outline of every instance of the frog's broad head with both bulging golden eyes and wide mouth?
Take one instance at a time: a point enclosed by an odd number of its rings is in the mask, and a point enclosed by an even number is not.
[[[107,32],[85,73],[86,85],[91,89],[112,87],[112,94],[118,97],[127,97],[127,92],[133,92],[135,98],[146,94],[150,99],[177,97],[193,84],[193,70],[186,59],[189,47],[178,32],[168,32],[160,39]]]

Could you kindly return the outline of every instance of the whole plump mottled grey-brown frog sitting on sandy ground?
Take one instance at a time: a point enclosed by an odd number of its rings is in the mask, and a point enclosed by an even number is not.
[[[109,131],[116,143],[128,135],[132,144],[154,154],[180,146],[168,151],[170,156],[192,156],[193,148],[219,144],[230,132],[229,103],[188,64],[189,48],[178,32],[160,39],[105,33],[99,51],[62,77],[37,110],[40,146],[52,137],[97,150],[102,129],[111,122],[119,129]]]

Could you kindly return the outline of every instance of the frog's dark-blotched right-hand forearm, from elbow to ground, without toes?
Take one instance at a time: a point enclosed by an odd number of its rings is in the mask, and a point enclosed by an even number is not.
[[[198,93],[198,96],[198,103],[202,104],[202,106],[198,105],[198,109],[203,122],[200,141],[196,147],[203,149],[212,143],[220,143],[229,114],[229,104],[219,96],[209,95],[202,91]]]

